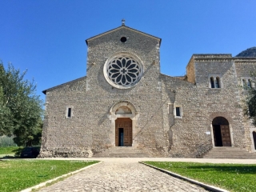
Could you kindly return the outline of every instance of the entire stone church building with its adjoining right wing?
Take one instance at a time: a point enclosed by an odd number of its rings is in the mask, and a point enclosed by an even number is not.
[[[170,77],[160,73],[161,38],[124,23],[86,44],[86,77],[43,91],[41,157],[118,146],[185,158],[216,146],[256,151],[256,127],[239,107],[256,58],[194,54],[184,77]]]

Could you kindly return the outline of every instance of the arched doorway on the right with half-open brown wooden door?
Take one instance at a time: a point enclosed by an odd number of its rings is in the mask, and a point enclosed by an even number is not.
[[[214,118],[212,125],[214,132],[214,146],[231,146],[230,127],[226,118]]]

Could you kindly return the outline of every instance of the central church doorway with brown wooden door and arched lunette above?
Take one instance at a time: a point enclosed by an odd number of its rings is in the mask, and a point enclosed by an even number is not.
[[[126,116],[132,114],[127,106],[120,106],[115,114],[117,116]],[[130,118],[117,118],[115,120],[115,146],[132,146],[133,142],[133,128],[132,120]]]

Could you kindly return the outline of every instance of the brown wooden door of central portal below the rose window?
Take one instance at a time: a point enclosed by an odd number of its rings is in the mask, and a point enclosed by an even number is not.
[[[133,131],[131,119],[118,118],[117,120],[115,120],[115,146],[120,146],[118,134],[119,128],[123,128],[123,146],[132,146]]]

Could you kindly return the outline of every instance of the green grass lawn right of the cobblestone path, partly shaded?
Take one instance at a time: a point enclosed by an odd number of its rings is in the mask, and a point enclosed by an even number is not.
[[[230,191],[256,191],[256,165],[198,162],[145,162]]]

